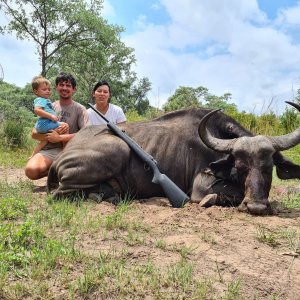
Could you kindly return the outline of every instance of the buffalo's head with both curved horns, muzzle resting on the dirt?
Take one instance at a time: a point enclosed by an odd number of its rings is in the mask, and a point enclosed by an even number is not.
[[[289,103],[300,111],[300,107]],[[274,166],[273,156],[278,151],[287,150],[300,143],[300,128],[283,136],[244,136],[229,140],[212,136],[206,129],[206,123],[217,111],[205,115],[199,125],[199,136],[209,148],[228,154],[224,164],[226,168],[234,168],[237,180],[244,191],[244,198],[239,210],[251,214],[270,213],[268,200],[272,183]],[[226,170],[224,170],[225,172]]]

